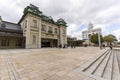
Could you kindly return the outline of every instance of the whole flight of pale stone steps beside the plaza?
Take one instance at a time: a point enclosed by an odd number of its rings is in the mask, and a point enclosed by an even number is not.
[[[119,60],[120,51],[106,50],[94,59],[81,66],[81,73],[95,80],[120,80]]]

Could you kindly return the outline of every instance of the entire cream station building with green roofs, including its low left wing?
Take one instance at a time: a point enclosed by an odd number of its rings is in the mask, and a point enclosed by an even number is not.
[[[18,24],[0,18],[0,48],[41,48],[67,45],[66,22],[56,22],[30,4]]]

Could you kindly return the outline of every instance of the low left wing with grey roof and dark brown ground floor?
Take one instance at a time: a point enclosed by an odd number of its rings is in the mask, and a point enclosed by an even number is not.
[[[0,49],[25,48],[25,37],[20,25],[3,21],[0,17]]]

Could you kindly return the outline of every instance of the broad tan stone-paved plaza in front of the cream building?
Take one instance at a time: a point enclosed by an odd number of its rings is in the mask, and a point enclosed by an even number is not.
[[[76,71],[96,47],[0,50],[0,80],[94,80]]]

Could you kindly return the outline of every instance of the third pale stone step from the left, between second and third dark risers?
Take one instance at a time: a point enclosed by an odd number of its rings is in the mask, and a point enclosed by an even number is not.
[[[108,61],[109,61],[110,55],[111,55],[111,51],[108,53],[108,55],[107,55],[106,58],[103,60],[103,62],[97,67],[97,69],[94,71],[93,75],[99,76],[99,77],[102,76],[102,74],[103,74],[103,72],[104,72],[104,69],[106,68],[107,63],[108,63]]]

